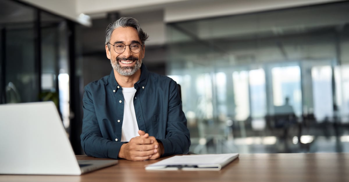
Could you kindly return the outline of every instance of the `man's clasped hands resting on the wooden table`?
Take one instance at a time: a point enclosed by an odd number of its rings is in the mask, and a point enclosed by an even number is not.
[[[127,160],[157,159],[164,153],[164,146],[158,143],[154,136],[139,130],[138,134],[128,143],[121,145],[119,157]]]

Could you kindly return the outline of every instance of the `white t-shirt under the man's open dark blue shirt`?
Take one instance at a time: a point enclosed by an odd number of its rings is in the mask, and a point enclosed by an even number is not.
[[[122,87],[124,95],[124,120],[122,121],[121,142],[129,142],[133,137],[139,136],[136,113],[134,111],[133,98],[136,93],[134,87]]]

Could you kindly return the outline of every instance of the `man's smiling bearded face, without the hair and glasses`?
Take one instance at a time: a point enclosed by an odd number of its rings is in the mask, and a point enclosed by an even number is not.
[[[125,45],[130,45],[134,42],[142,44],[138,32],[133,27],[119,27],[115,29],[111,34],[110,43],[114,45],[117,42]],[[133,53],[129,46],[126,46],[126,50],[119,54],[114,51],[112,45],[109,44],[110,50],[106,45],[105,51],[113,69],[122,76],[135,74],[141,68],[142,59],[144,58],[144,47],[141,48],[139,53]]]

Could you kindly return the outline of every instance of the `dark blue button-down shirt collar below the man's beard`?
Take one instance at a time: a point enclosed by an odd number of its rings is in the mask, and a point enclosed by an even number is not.
[[[141,76],[139,77],[139,80],[134,84],[134,88],[138,89],[137,87],[139,87],[142,90],[144,90],[144,88],[147,85],[148,75],[149,75],[149,71],[148,71],[146,65],[144,65],[142,63],[142,65],[141,65]],[[111,86],[113,87],[113,90],[115,90],[115,91],[117,91],[118,89],[121,88],[121,86],[118,84],[118,82],[115,79],[114,70],[111,70],[108,82],[111,84]]]

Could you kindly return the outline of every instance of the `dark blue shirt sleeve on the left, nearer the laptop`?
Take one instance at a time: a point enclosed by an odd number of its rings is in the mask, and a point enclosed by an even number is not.
[[[121,145],[126,142],[114,142],[102,137],[96,116],[94,98],[88,86],[83,96],[83,120],[80,136],[81,146],[86,155],[99,158],[118,159]]]

